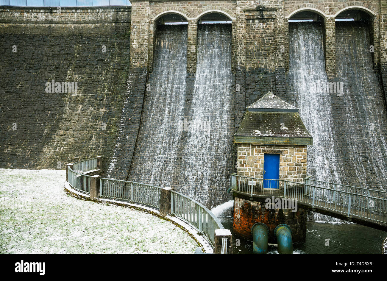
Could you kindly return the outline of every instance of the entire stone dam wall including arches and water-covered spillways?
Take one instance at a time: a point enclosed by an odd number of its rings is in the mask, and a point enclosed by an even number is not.
[[[225,190],[237,161],[232,134],[246,106],[271,91],[297,103],[301,115],[308,105],[319,103],[319,114],[313,117],[319,117],[321,125],[310,120],[310,126],[315,144],[321,146],[310,150],[316,155],[309,174],[324,169],[322,180],[384,187],[387,0],[307,2],[133,0],[128,7],[62,7],[60,12],[1,7],[0,166],[57,169],[101,155],[107,176],[172,186],[207,207],[216,206],[230,199]],[[353,10],[369,20],[335,21]],[[303,12],[319,20],[312,29],[295,30],[289,19]],[[214,13],[228,21],[216,32],[201,22]],[[184,24],[159,25],[171,14]],[[185,41],[171,42],[183,39],[176,38],[180,32]],[[227,50],[211,39],[214,34],[223,36]],[[297,36],[314,40],[319,52],[316,79],[343,82],[342,95],[327,93],[323,99],[314,97],[313,103],[305,96],[313,93],[300,85],[313,79],[301,81],[292,67],[301,71],[303,66],[294,62],[308,63],[305,55],[315,57],[313,52],[293,50],[289,44],[299,41]],[[177,59],[174,50],[185,55]],[[216,62],[216,67],[222,66],[217,69],[205,63],[211,60],[206,50],[217,50],[218,57],[229,60]],[[219,75],[219,81],[201,78],[208,69],[217,69],[213,77]],[[77,82],[77,94],[46,93],[46,83],[52,80]],[[200,89],[205,81],[212,86]],[[229,89],[221,88],[221,81],[228,81],[224,85]],[[209,102],[203,93],[217,96]],[[216,102],[219,97],[227,99],[228,106],[223,99]],[[198,101],[203,101],[202,108]],[[325,110],[329,122],[323,120]],[[209,127],[216,131],[211,135],[218,139],[184,127],[186,121],[207,120],[200,114],[212,120]],[[327,135],[318,140],[324,132]],[[226,135],[231,138],[227,144]],[[321,151],[333,151],[335,159],[326,158],[322,165],[317,157]],[[207,169],[206,175],[199,166]]]

